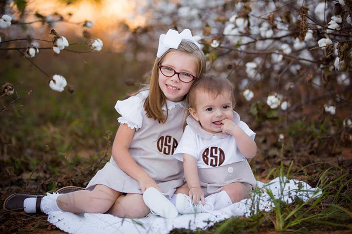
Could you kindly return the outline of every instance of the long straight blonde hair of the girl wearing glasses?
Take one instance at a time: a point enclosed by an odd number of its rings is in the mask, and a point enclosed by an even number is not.
[[[166,122],[166,119],[168,117],[168,108],[166,108],[166,115],[164,115],[161,107],[164,104],[167,104],[165,101],[165,95],[159,87],[159,64],[163,61],[167,54],[173,53],[175,51],[189,54],[196,60],[196,76],[198,78],[200,78],[201,75],[205,73],[205,55],[203,51],[191,41],[182,40],[181,43],[178,45],[177,49],[169,49],[163,56],[161,56],[161,58],[155,59],[149,85],[143,88],[143,90],[145,90],[149,87],[149,95],[144,101],[144,110],[147,112],[147,117],[157,119],[159,122],[162,123]]]

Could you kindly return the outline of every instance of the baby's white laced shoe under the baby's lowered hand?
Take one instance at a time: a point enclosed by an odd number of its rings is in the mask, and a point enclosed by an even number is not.
[[[177,194],[176,196],[176,209],[179,214],[194,214],[194,213],[206,213],[214,210],[214,206],[211,203],[195,205],[192,199],[185,194]]]

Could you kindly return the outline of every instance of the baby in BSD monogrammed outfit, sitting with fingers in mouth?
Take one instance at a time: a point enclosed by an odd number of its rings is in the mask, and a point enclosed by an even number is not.
[[[246,158],[256,155],[257,146],[255,133],[233,111],[231,82],[197,79],[188,101],[191,115],[174,157],[183,161],[189,196],[177,194],[178,212],[219,210],[247,198],[256,180]]]

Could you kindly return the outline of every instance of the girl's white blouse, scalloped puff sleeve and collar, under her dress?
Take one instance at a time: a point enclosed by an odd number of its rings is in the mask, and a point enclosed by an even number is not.
[[[130,98],[125,100],[118,100],[115,104],[115,110],[121,115],[117,118],[120,124],[127,124],[131,129],[135,128],[138,131],[143,125],[143,112],[144,112],[144,100],[148,97],[149,90],[143,90]],[[183,107],[184,101],[173,102],[166,100],[168,110],[175,108],[176,106]],[[166,111],[166,106],[161,107],[163,111]]]

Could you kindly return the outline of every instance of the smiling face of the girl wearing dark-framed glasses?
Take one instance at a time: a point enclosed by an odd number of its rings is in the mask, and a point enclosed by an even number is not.
[[[197,77],[197,63],[191,55],[173,51],[165,55],[160,62],[162,66],[168,66],[176,72],[185,72]],[[182,82],[175,73],[172,77],[164,76],[159,70],[158,83],[166,99],[174,102],[181,101],[188,93],[193,81]]]

